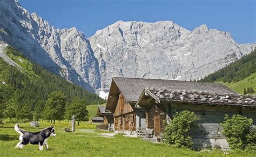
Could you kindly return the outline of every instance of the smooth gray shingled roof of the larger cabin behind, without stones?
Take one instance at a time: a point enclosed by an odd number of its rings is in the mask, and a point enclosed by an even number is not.
[[[127,101],[137,101],[140,93],[144,88],[156,88],[157,90],[166,89],[168,91],[186,90],[186,91],[207,91],[210,93],[234,93],[237,92],[230,88],[215,83],[200,83],[193,81],[178,81],[178,80],[161,80],[161,79],[139,79],[139,78],[124,78],[113,77],[113,80],[119,90],[124,94]],[[111,92],[111,90],[110,90]],[[111,93],[110,93],[111,94]]]

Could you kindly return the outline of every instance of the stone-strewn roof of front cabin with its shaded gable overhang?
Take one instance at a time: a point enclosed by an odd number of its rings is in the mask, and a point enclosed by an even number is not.
[[[146,88],[140,94],[139,100],[136,103],[137,108],[148,108],[152,105],[152,100],[156,104],[165,103],[182,103],[182,104],[198,104],[198,105],[211,105],[211,106],[240,106],[248,108],[256,108],[256,97],[250,95],[211,95],[210,93],[197,93],[196,99],[194,97],[187,97],[188,95],[193,96],[196,93],[186,93],[186,92],[170,92],[170,91],[149,91]],[[171,97],[170,97],[171,96]],[[214,99],[214,96],[215,97]],[[181,98],[182,97],[182,98]],[[210,100],[212,99],[212,100]],[[219,101],[216,99],[219,99]],[[239,101],[240,103],[238,103]],[[248,101],[251,100],[251,104]],[[247,104],[244,104],[246,103]]]

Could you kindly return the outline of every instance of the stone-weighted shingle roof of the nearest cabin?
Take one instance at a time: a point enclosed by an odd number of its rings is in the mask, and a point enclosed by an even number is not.
[[[147,94],[144,94],[144,93]],[[167,91],[144,89],[140,94],[137,105],[146,105],[149,97],[154,98],[158,103],[181,102],[210,105],[247,106],[256,107],[256,95],[235,95],[234,93],[209,93],[202,91]]]

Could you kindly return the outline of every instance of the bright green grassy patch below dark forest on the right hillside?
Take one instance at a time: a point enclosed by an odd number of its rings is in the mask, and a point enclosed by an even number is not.
[[[256,72],[252,73],[250,76],[237,81],[235,83],[223,83],[224,85],[230,87],[232,90],[244,94],[244,88],[253,87],[254,92],[250,94],[256,94]]]

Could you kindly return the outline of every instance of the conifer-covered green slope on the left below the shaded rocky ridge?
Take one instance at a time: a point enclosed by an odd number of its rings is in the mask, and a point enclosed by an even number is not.
[[[48,95],[53,91],[64,93],[67,103],[74,98],[85,99],[87,105],[105,103],[98,95],[32,63],[10,46],[6,48],[6,54],[20,63],[22,69],[13,67],[0,58],[0,118],[4,111],[5,115],[14,114],[8,113],[11,110],[22,111],[23,114],[35,110],[43,112]]]

